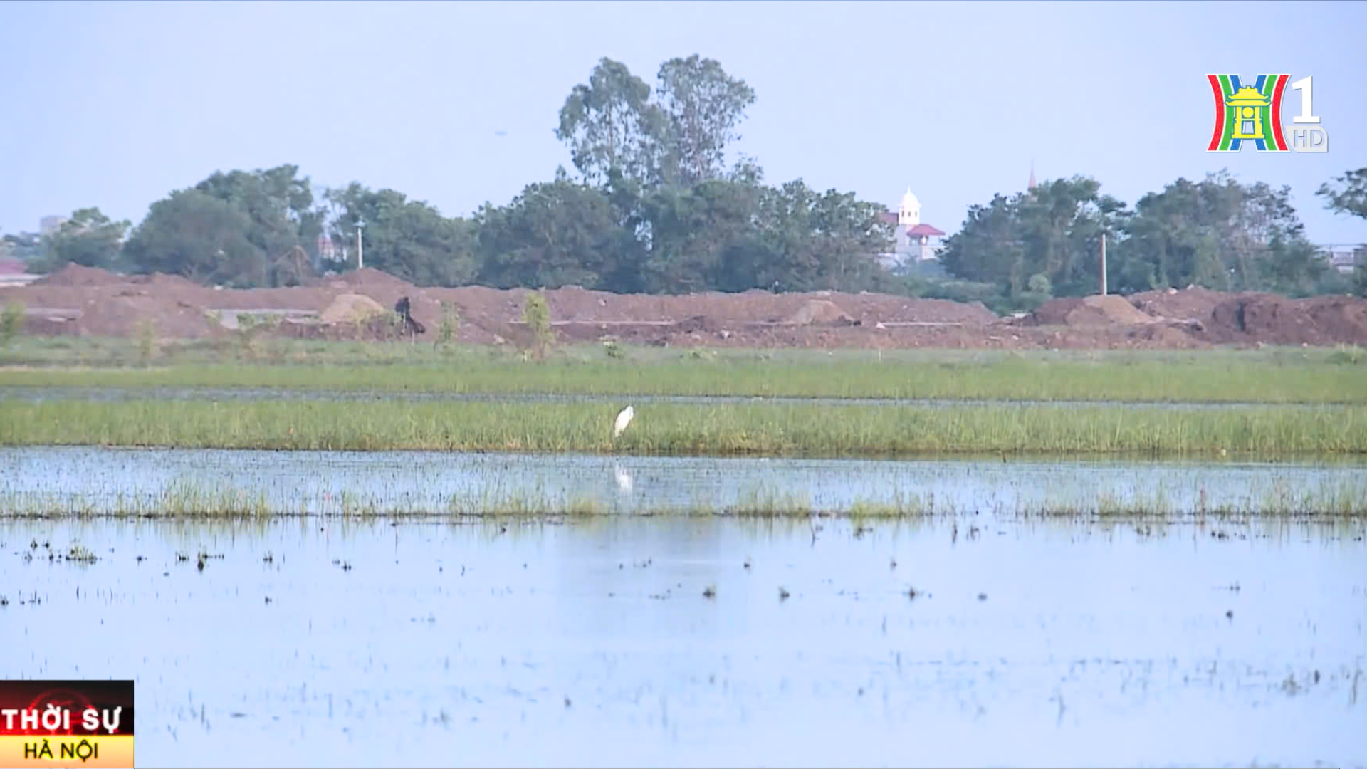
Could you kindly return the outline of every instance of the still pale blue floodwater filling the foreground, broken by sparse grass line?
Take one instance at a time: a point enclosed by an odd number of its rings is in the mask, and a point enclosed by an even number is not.
[[[178,456],[25,449],[0,467],[11,488],[15,469],[49,491],[156,487]],[[41,472],[59,460],[86,464],[59,482]],[[282,487],[303,472],[294,454],[197,460]],[[360,456],[310,461],[375,482]],[[1029,465],[940,465],[904,471],[969,495],[1039,484]],[[638,468],[636,488],[671,467]],[[781,478],[833,471],[794,467]],[[1084,486],[1124,469],[1050,467]],[[1292,471],[1200,472],[1233,487]],[[139,766],[1367,765],[1360,520],[812,527],[8,519],[0,676],[134,677]],[[98,560],[49,558],[75,543]]]

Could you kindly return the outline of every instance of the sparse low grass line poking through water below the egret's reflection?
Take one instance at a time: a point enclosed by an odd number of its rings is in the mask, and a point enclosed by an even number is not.
[[[1152,488],[1136,493],[1102,490],[1087,494],[995,501],[990,505],[936,501],[934,493],[894,488],[879,498],[856,498],[846,505],[817,505],[808,494],[789,488],[748,488],[731,501],[693,499],[682,505],[659,504],[618,510],[610,498],[565,494],[544,487],[510,491],[481,487],[474,491],[433,495],[414,502],[385,494],[344,490],[339,494],[298,494],[272,501],[260,488],[200,484],[178,480],[139,494],[89,497],[12,491],[0,488],[0,516],[7,517],[144,517],[144,519],[265,519],[275,516],[339,516],[349,520],[377,517],[446,519],[548,519],[595,516],[729,516],[742,519],[848,517],[857,524],[879,520],[969,516],[987,513],[1007,519],[1051,520],[1202,520],[1226,523],[1258,517],[1367,519],[1367,479],[1323,479],[1314,484],[1275,480],[1260,491],[1207,501],[1196,488]],[[1193,501],[1195,497],[1195,501]]]

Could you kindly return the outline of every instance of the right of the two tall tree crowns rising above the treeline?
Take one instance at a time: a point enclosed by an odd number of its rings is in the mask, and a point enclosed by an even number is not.
[[[668,119],[677,181],[696,185],[722,178],[726,146],[741,138],[735,127],[755,104],[755,89],[697,53],[662,64],[659,82],[656,96]]]

